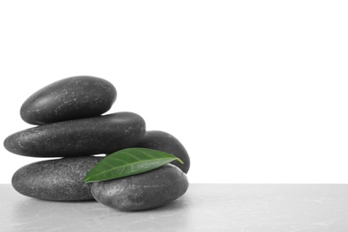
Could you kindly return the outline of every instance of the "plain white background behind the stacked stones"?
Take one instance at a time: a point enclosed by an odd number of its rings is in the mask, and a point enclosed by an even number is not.
[[[348,183],[346,1],[1,1],[1,140],[77,75],[177,137],[189,181]],[[0,183],[42,159],[1,146]]]

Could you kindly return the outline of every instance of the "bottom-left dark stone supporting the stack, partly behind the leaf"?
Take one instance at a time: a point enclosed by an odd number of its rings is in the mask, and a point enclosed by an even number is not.
[[[20,194],[51,201],[94,200],[83,180],[103,157],[72,157],[30,163],[17,170],[12,186]]]

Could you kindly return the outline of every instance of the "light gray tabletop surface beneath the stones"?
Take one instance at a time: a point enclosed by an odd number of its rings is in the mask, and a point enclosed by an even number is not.
[[[59,203],[0,185],[0,231],[348,231],[348,185],[191,184],[155,210]]]

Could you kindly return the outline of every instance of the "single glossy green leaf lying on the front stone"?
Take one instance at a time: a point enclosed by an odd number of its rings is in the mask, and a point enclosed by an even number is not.
[[[157,169],[167,163],[178,161],[178,157],[148,148],[127,148],[106,156],[90,170],[85,182],[124,178]]]

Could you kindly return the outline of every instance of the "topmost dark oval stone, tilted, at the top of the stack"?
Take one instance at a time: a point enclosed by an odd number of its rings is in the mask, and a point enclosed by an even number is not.
[[[88,76],[61,79],[30,95],[21,105],[21,118],[42,125],[95,117],[110,110],[116,95],[116,88],[105,79]]]

